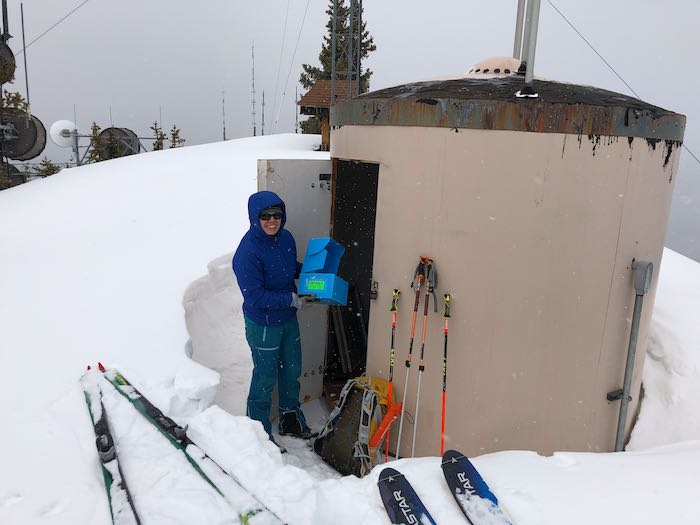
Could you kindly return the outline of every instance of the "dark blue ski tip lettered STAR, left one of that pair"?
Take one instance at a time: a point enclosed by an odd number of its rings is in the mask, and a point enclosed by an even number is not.
[[[382,469],[377,487],[392,524],[436,525],[416,491],[398,470]]]

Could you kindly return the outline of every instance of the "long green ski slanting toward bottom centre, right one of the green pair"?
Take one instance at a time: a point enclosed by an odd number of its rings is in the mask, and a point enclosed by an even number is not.
[[[122,396],[131,402],[131,404],[138,410],[150,423],[152,423],[161,434],[163,434],[168,441],[177,449],[179,449],[184,455],[187,461],[192,465],[194,470],[202,476],[202,478],[211,485],[211,487],[216,490],[221,496],[226,497],[224,493],[214,484],[214,482],[206,475],[199,462],[193,457],[190,452],[188,452],[188,447],[195,447],[197,450],[196,454],[201,460],[206,460],[211,465],[216,466],[218,470],[226,474],[234,483],[243,491],[250,499],[249,508],[238,512],[238,518],[243,525],[252,525],[252,519],[254,517],[262,518],[265,516],[265,523],[282,523],[282,521],[265,505],[263,505],[249,490],[247,490],[241,483],[231,474],[226,472],[221,468],[213,459],[207,456],[204,451],[197,444],[192,441],[187,435],[187,430],[181,427],[175,421],[170,419],[168,416],[163,414],[163,412],[151,403],[141,392],[139,392],[129,381],[121,375],[117,370],[107,369],[101,363],[99,364],[99,369],[102,372],[104,378],[119,392]],[[257,521],[257,519],[256,519]]]

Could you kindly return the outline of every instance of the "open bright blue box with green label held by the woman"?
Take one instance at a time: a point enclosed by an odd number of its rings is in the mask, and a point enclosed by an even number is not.
[[[299,275],[299,295],[313,294],[319,303],[345,306],[348,283],[336,274],[345,248],[329,237],[309,240]]]

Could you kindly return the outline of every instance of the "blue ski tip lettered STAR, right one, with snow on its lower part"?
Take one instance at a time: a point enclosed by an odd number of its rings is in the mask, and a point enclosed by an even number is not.
[[[442,473],[459,508],[472,525],[511,525],[498,505],[496,495],[461,452],[448,450],[442,456]]]

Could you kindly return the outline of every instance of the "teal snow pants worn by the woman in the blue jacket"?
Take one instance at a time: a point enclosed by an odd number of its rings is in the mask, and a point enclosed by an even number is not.
[[[253,354],[253,379],[248,392],[247,415],[272,435],[270,407],[278,386],[279,412],[294,411],[305,424],[299,406],[301,336],[296,315],[279,326],[265,326],[245,317],[245,335]]]

